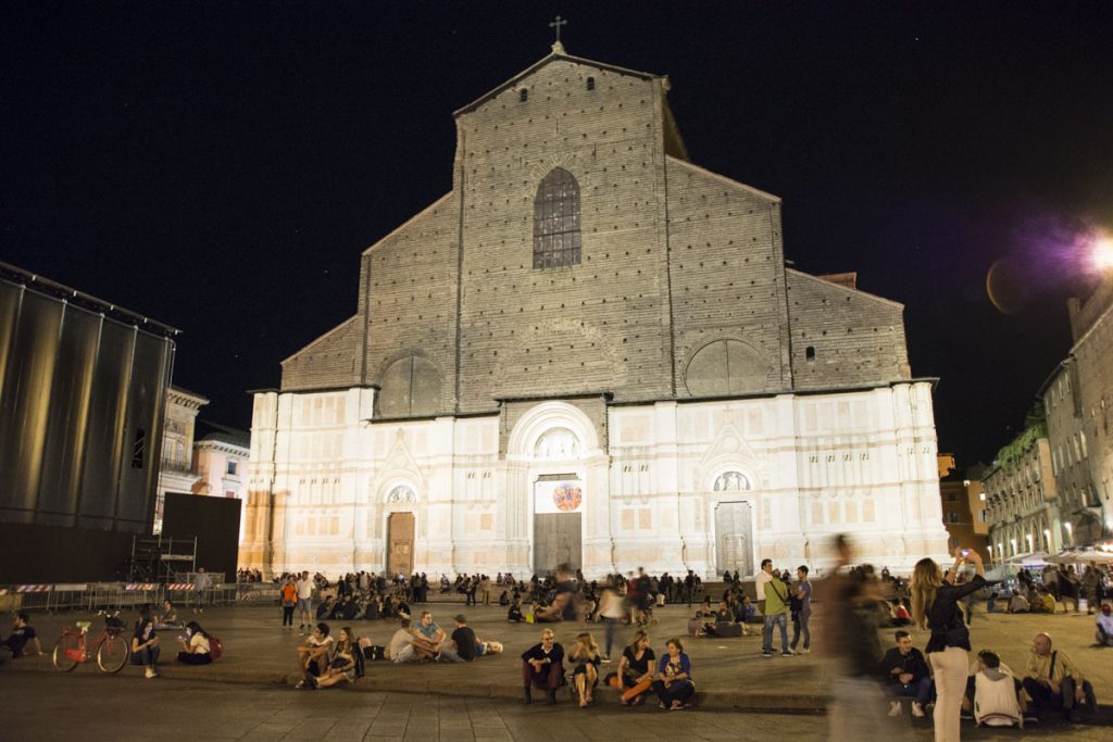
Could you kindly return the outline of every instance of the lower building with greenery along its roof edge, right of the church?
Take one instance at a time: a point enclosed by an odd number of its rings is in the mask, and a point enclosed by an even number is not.
[[[985,475],[989,545],[996,561],[1063,547],[1058,489],[1042,418],[1001,449]]]

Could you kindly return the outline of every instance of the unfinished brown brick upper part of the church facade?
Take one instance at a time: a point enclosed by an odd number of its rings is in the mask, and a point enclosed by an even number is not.
[[[908,379],[903,307],[787,269],[780,199],[687,161],[667,91],[553,53],[456,111],[452,191],[364,253],[355,316],[283,363],[283,389],[380,386],[376,415],[406,417]],[[558,167],[582,258],[534,268]]]

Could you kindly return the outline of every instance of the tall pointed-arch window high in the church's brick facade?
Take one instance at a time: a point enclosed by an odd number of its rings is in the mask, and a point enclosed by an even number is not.
[[[533,267],[580,263],[580,186],[564,168],[553,168],[533,197]]]

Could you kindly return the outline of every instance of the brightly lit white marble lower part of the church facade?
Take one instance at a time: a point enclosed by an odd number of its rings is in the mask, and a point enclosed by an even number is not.
[[[383,571],[387,522],[406,512],[417,571],[523,577],[539,514],[562,507],[580,513],[572,561],[589,577],[708,578],[767,556],[821,572],[836,533],[900,573],[946,553],[927,382],[612,404],[602,422],[539,400],[509,431],[498,414],[374,421],[374,394],[256,394],[240,566]]]

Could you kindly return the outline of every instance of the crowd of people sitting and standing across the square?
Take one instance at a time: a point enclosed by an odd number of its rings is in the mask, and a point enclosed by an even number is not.
[[[986,600],[986,613],[998,611],[1096,613],[1096,646],[1113,646],[1113,614],[1106,601],[1109,574],[1096,566],[1080,571],[1054,567],[1042,573],[1021,573],[1007,593],[986,581],[976,553],[961,550],[944,568],[930,558],[917,563],[910,578],[876,573],[869,565],[851,565],[849,543],[836,542],[838,560],[826,580],[818,583],[825,621],[817,641],[839,667],[833,689],[833,730],[867,723],[870,710],[902,716],[907,709],[916,719],[933,719],[937,740],[957,740],[961,720],[978,724],[1024,726],[1061,714],[1067,719],[1093,711],[1095,689],[1070,654],[1053,645],[1048,631],[1032,640],[1023,673],[1014,672],[997,651],[979,649],[973,655],[971,619],[974,601]],[[688,622],[690,639],[735,637],[760,633],[760,654],[785,657],[811,651],[810,616],[814,586],[807,565],[775,566],[762,560],[752,584],[738,573],[722,575],[722,593],[703,594],[698,575],[650,575],[644,570],[585,580],[579,571],[561,566],[546,575],[516,580],[510,574],[441,575],[434,590],[455,591],[465,605],[506,609],[510,623],[574,626],[569,649],[545,626],[540,641],[521,655],[525,703],[534,691],[543,691],[549,703],[568,687],[581,708],[595,702],[600,683],[614,689],[619,702],[634,706],[654,698],[658,708],[682,710],[695,701],[692,661],[684,639],[669,637],[656,652],[649,631],[657,623],[654,609],[669,603],[698,605]],[[242,571],[243,581],[262,575]],[[325,689],[354,681],[368,662],[466,663],[503,651],[501,641],[481,637],[466,616],[453,616],[442,629],[429,610],[430,581],[424,573],[386,575],[349,573],[335,582],[308,572],[280,575],[282,626],[293,630],[299,620],[304,640],[297,647],[298,687]],[[752,590],[752,592],[751,592]],[[1073,609],[1073,611],[1072,611]],[[195,615],[197,610],[194,611]],[[393,621],[396,627],[376,643],[367,631],[353,629],[359,621]],[[332,625],[341,624],[335,632]],[[600,630],[594,632],[593,625]],[[791,626],[791,639],[789,639]],[[893,646],[883,651],[880,632],[896,627]],[[926,630],[925,644],[915,646],[916,629]],[[1048,626],[1052,629],[1052,626]],[[166,601],[160,611],[145,606],[130,639],[131,662],[144,667],[146,677],[158,674],[159,632],[180,632],[177,662],[208,664],[219,656],[219,640],[196,620],[184,621]],[[629,632],[629,640],[621,634]],[[373,632],[372,632],[373,633]],[[597,633],[599,634],[597,637]],[[385,633],[383,634],[385,636]],[[617,665],[612,652],[618,652]],[[19,613],[7,639],[0,640],[0,662],[41,653],[27,613]],[[876,702],[869,701],[876,698]],[[857,719],[839,708],[857,706]],[[853,714],[851,714],[853,715]],[[854,734],[835,734],[849,739]]]

